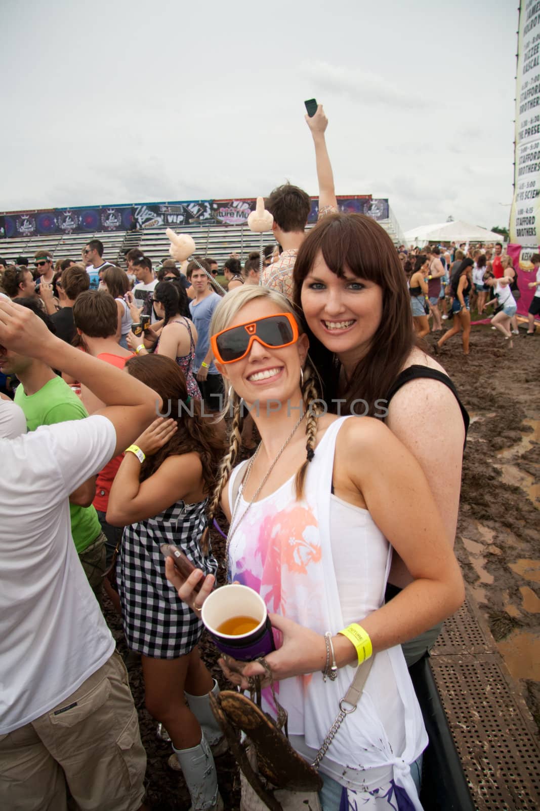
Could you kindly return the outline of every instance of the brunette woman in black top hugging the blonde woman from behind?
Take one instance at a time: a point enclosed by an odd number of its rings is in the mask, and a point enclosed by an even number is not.
[[[370,217],[329,215],[305,238],[294,277],[325,401],[337,403],[341,414],[352,409],[385,418],[419,461],[453,546],[469,418],[443,367],[416,344],[391,239]],[[410,581],[394,553],[387,597]],[[439,632],[440,626],[407,643],[407,663],[420,659]]]

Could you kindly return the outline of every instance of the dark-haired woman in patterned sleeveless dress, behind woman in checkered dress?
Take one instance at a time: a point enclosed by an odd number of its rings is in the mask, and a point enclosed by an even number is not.
[[[147,350],[141,338],[130,333],[130,347],[139,355],[151,352],[166,355],[176,361],[184,372],[189,397],[200,400],[201,392],[193,375],[198,335],[195,324],[185,315],[186,312],[189,315],[189,306],[184,287],[174,281],[160,281],[154,290],[154,309],[158,318],[163,320],[163,327],[155,344]]]

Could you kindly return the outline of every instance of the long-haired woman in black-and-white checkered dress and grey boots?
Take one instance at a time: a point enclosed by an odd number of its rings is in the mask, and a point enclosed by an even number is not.
[[[125,638],[141,654],[147,710],[171,736],[193,809],[210,809],[218,793],[208,776],[215,775],[209,744],[218,742],[221,731],[209,694],[217,684],[198,652],[202,623],[166,580],[159,547],[173,543],[195,567],[215,573],[203,536],[206,496],[215,485],[223,441],[215,424],[202,418],[171,358],[148,354],[130,358],[125,368],[159,394],[170,414],[155,419],[137,447],[131,446],[134,451],[125,453],[108,500],[107,521],[125,526],[117,564]],[[201,791],[208,794],[203,805]]]

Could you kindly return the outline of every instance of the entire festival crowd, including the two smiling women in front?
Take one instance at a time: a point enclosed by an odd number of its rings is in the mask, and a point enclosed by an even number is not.
[[[306,120],[319,221],[306,233],[308,195],[274,189],[262,271],[258,253],[231,255],[225,294],[209,257],[153,268],[135,248],[121,268],[96,239],[81,262],[39,251],[34,273],[2,272],[3,807],[62,811],[68,790],[80,808],[146,807],[105,591],[193,811],[223,809],[219,687],[198,649],[223,564],[282,637],[265,663],[221,659],[223,674],[247,689],[270,673],[308,762],[346,666],[372,662],[321,759],[321,809],[422,808],[427,734],[408,667],[464,598],[453,542],[469,418],[420,339],[429,318],[437,333],[453,317],[438,343],[461,332],[467,354],[471,300],[483,315],[491,290],[511,338],[516,277],[501,245],[396,251],[376,221],[339,212],[321,106]],[[224,560],[209,541],[219,508]],[[185,552],[189,577],[163,544]]]

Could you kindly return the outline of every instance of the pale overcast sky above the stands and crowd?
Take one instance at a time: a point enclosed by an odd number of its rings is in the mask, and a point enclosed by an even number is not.
[[[2,0],[0,210],[336,192],[508,225],[516,0]]]

